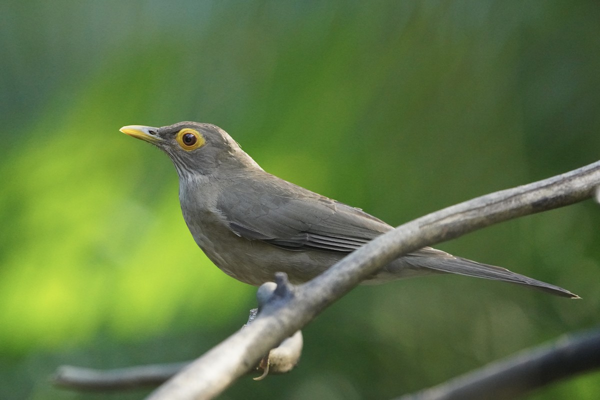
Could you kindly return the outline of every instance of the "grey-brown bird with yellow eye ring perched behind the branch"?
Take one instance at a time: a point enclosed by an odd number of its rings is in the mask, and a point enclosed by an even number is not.
[[[167,154],[179,178],[181,210],[197,245],[217,267],[250,285],[285,272],[293,284],[316,277],[350,252],[394,229],[364,212],[266,172],[226,131],[178,122],[120,129]],[[562,297],[576,294],[490,264],[424,247],[363,283],[456,273],[512,282]]]

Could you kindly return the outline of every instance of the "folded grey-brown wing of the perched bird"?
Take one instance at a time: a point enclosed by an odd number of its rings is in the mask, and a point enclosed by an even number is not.
[[[217,201],[238,236],[289,250],[351,252],[391,226],[272,175],[236,181]]]

